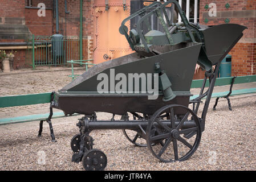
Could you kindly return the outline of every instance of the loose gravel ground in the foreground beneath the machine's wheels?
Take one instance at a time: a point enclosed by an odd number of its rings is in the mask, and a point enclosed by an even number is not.
[[[255,170],[255,101],[256,94],[231,97],[233,111],[229,111],[222,99],[213,111],[212,99],[200,146],[185,162],[159,162],[148,148],[128,142],[121,130],[92,131],[94,148],[107,155],[105,170]],[[107,113],[97,116],[111,118]],[[52,119],[56,143],[50,141],[47,123],[40,138],[36,137],[39,122],[0,126],[0,170],[83,170],[82,163],[71,162],[70,139],[79,131],[78,118]],[[42,151],[46,163],[38,164]]]

